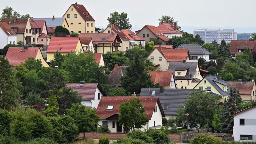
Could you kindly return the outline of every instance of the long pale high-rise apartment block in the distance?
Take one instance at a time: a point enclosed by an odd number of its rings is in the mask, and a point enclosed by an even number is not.
[[[224,39],[226,43],[230,43],[231,40],[237,40],[237,32],[234,32],[234,29],[220,29],[220,28],[200,28],[196,29],[193,32],[194,37],[199,34],[201,39],[205,43],[211,43],[216,39],[218,44],[220,44],[221,40]]]

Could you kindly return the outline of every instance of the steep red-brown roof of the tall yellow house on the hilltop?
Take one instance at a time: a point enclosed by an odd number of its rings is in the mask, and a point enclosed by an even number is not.
[[[92,16],[89,14],[89,12],[87,11],[87,9],[83,6],[83,5],[78,5],[77,3],[75,3],[75,4],[71,4],[70,5],[70,7],[71,6],[73,6],[76,10],[77,10],[77,12],[79,13],[79,15],[85,20],[85,21],[95,21],[93,18],[92,18]],[[69,7],[69,8],[70,8]],[[69,9],[68,8],[68,9]],[[68,11],[68,10],[67,10]],[[66,12],[67,13],[67,12]],[[66,14],[65,13],[65,14]],[[65,14],[62,16],[62,17],[64,17],[65,16]],[[87,17],[87,15],[88,15],[88,17]]]

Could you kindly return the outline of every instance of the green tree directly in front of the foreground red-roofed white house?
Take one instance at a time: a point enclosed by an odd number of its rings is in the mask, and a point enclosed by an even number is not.
[[[123,126],[125,132],[142,128],[148,122],[148,116],[144,112],[145,108],[139,98],[123,102],[119,107],[119,125]]]

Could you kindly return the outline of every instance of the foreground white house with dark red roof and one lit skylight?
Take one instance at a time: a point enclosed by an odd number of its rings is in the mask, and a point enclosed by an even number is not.
[[[144,114],[148,116],[148,122],[141,128],[150,129],[157,126],[162,126],[162,117],[165,117],[163,108],[158,97],[136,97],[132,94],[131,97],[127,96],[103,96],[96,110],[96,115],[101,117],[99,125],[108,126],[111,132],[122,132],[123,128],[119,126],[118,116],[119,106],[123,102],[129,101],[131,98],[139,98],[141,104],[145,108]]]

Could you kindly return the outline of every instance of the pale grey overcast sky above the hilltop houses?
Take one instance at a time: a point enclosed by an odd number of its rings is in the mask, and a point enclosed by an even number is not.
[[[255,0],[1,0],[0,11],[9,6],[21,15],[62,17],[76,2],[84,5],[99,28],[106,27],[110,13],[117,11],[128,14],[133,31],[140,29],[139,26],[157,26],[162,15],[174,17],[182,29],[190,28],[189,33],[193,33],[191,28],[200,27],[234,28],[238,33],[256,30]],[[239,32],[241,28],[243,31]]]

